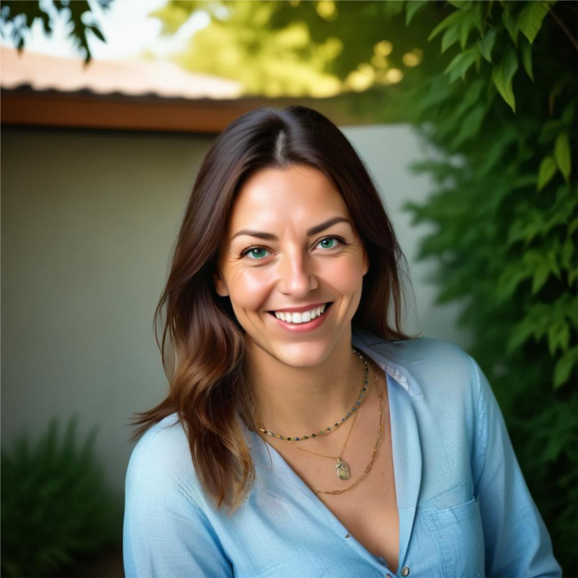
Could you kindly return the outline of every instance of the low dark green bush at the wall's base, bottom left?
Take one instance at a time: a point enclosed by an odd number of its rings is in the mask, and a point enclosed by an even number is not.
[[[52,576],[120,543],[121,497],[93,453],[95,429],[77,447],[76,422],[69,420],[62,440],[53,418],[34,446],[20,436],[0,447],[2,576]]]

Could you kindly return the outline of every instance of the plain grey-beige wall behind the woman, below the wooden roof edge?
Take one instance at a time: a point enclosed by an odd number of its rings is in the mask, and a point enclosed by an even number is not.
[[[423,199],[407,162],[425,153],[404,125],[345,129],[376,177],[410,262],[407,331],[453,340],[456,307],[432,307],[429,271],[400,212]],[[122,488],[126,423],[167,390],[152,318],[187,195],[211,136],[3,128],[0,132],[0,440],[50,417],[97,425],[96,448]],[[410,304],[411,305],[411,304]]]

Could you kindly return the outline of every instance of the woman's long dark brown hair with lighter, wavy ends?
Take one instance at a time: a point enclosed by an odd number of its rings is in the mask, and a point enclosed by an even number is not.
[[[232,121],[203,159],[154,314],[168,395],[153,409],[135,413],[131,423],[140,426],[131,438],[136,440],[176,412],[199,480],[217,507],[224,502],[229,513],[242,503],[255,476],[239,421],[251,415],[253,392],[243,372],[243,328],[229,298],[217,294],[213,272],[244,180],[262,168],[296,164],[313,166],[332,181],[368,251],[369,271],[352,325],[387,340],[418,336],[401,329],[402,277],[411,286],[407,261],[368,168],[346,136],[305,106],[263,106]],[[395,327],[389,323],[390,306]]]

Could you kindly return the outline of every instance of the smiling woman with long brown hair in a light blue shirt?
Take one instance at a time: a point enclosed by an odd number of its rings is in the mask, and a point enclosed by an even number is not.
[[[403,334],[403,261],[327,118],[217,137],[155,312],[171,387],[135,421],[128,578],[561,575],[476,361]]]

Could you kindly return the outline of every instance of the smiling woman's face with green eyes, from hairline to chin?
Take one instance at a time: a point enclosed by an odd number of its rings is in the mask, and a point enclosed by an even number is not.
[[[228,296],[249,344],[287,365],[325,360],[351,340],[351,318],[369,268],[342,196],[309,165],[261,169],[234,199],[221,242],[214,284]],[[274,312],[325,306],[312,318]],[[317,312],[315,312],[317,313]],[[314,313],[314,314],[315,314]],[[313,315],[314,315],[313,314]]]

